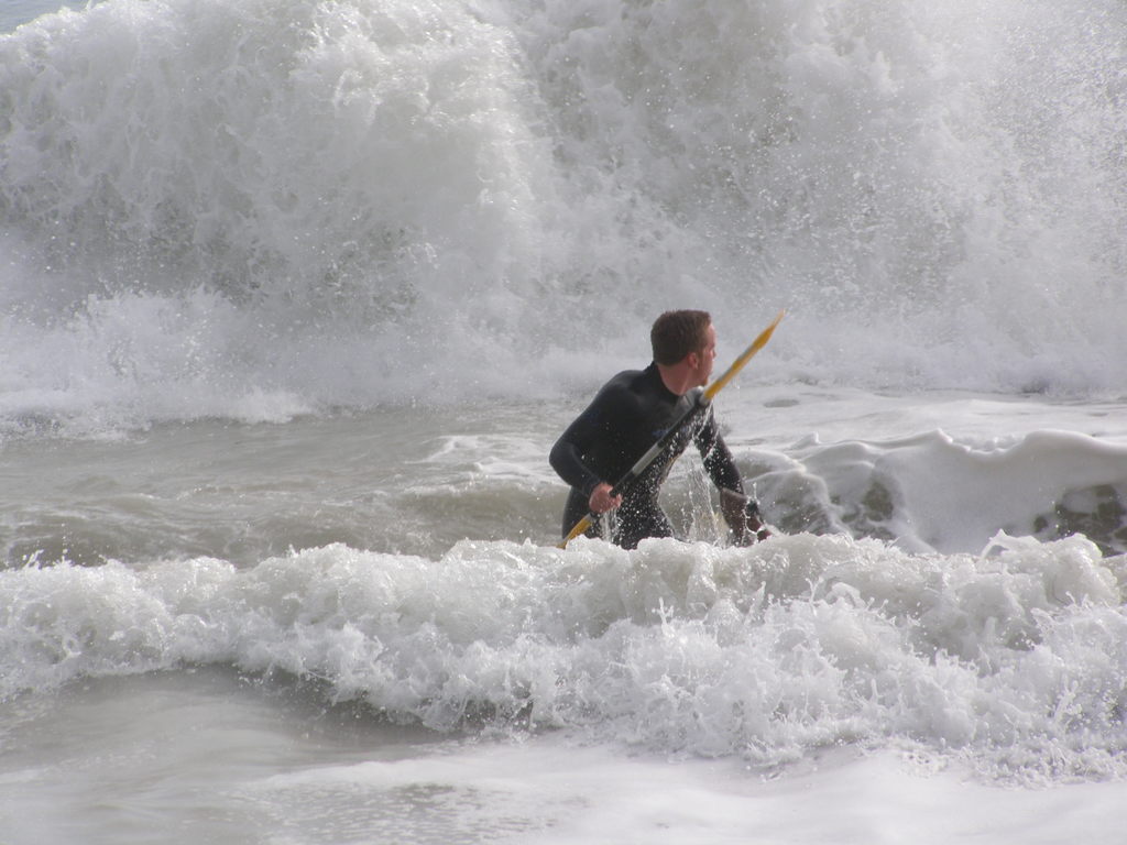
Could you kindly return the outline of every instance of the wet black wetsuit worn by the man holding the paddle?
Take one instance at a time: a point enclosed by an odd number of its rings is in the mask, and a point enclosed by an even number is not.
[[[592,490],[622,478],[693,401],[691,395],[672,393],[656,364],[619,373],[603,385],[549,455],[552,469],[571,486],[564,508],[564,536],[589,513]],[[673,536],[657,496],[690,441],[696,443],[712,482],[743,493],[739,470],[720,437],[711,408],[706,408],[623,492],[622,506],[615,512],[613,542],[633,549],[646,537]]]

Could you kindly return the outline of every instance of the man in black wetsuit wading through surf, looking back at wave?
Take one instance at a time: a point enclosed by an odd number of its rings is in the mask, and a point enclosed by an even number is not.
[[[603,385],[587,409],[552,446],[552,469],[571,486],[564,508],[564,536],[588,513],[615,510],[610,540],[633,549],[646,537],[673,536],[673,526],[657,497],[690,441],[696,444],[704,469],[720,489],[720,508],[735,542],[747,545],[767,536],[755,502],[744,496],[739,470],[720,437],[711,407],[684,426],[627,490],[611,496],[646,451],[695,402],[695,388],[708,383],[716,359],[716,329],[704,311],[667,311],[650,331],[654,362],[629,370]],[[592,534],[588,531],[588,534]]]

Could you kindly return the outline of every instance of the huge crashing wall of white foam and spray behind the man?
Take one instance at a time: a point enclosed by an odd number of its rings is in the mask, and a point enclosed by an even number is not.
[[[734,347],[788,306],[773,382],[1122,392],[1125,29],[1047,0],[46,16],[0,39],[0,411],[548,395],[684,304]]]

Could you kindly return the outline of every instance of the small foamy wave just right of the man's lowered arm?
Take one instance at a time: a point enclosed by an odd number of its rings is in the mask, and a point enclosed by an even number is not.
[[[916,550],[980,549],[997,531],[1068,533],[1112,540],[1125,495],[1127,452],[1071,432],[1035,432],[1008,445],[957,443],[942,432],[904,441],[846,441],[799,447],[755,479],[781,519],[816,506],[835,527],[895,539]],[[832,504],[833,502],[833,504]],[[1111,508],[1102,528],[1098,516]],[[1082,513],[1086,523],[1067,512]]]

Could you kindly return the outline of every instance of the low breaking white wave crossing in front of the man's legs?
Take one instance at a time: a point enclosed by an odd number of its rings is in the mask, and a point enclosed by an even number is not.
[[[231,664],[443,730],[557,727],[758,766],[891,744],[987,776],[1092,777],[1120,767],[1118,567],[1081,539],[937,557],[813,535],[59,564],[0,573],[2,677],[11,695]]]

